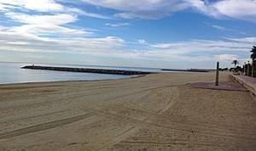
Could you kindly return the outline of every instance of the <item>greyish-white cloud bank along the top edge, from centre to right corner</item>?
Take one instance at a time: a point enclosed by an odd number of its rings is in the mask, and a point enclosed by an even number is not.
[[[122,11],[115,14],[125,19],[159,19],[186,8],[194,8],[202,14],[221,19],[233,18],[239,20],[256,19],[256,0],[78,0],[103,8],[113,8]]]

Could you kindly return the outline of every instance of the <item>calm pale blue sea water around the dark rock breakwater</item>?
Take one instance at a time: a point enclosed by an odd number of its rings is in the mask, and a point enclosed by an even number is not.
[[[76,73],[53,70],[26,70],[20,67],[31,64],[22,63],[1,63],[0,62],[0,84],[24,83],[38,81],[93,81],[123,79],[132,76],[94,74],[94,73]],[[140,70],[140,71],[160,71],[160,69],[148,68],[129,68],[129,67],[110,67],[110,66],[89,66],[89,65],[69,65],[69,64],[35,64],[48,66],[65,66],[77,68],[94,68],[94,69],[113,69],[113,70]]]

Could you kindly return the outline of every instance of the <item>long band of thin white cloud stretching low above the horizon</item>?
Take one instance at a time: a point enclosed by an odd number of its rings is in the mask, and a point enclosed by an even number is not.
[[[45,31],[48,33],[49,31]],[[66,34],[64,34],[66,35]],[[192,40],[184,42],[148,43],[139,50],[131,49],[132,42],[115,36],[84,37],[38,36],[19,30],[0,30],[0,51],[86,53],[104,57],[172,61],[230,61],[241,59],[239,54],[248,53],[256,37],[224,39],[222,41]],[[145,44],[143,39],[138,40]]]

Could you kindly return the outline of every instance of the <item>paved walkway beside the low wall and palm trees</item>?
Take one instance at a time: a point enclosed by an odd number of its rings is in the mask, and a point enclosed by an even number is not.
[[[256,78],[250,76],[235,76],[232,77],[246,87],[250,92],[256,95]]]

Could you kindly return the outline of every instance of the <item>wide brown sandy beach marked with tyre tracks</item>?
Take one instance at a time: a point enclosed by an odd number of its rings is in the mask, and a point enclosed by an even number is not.
[[[162,73],[2,85],[0,150],[255,150],[256,102],[249,92],[189,87],[212,80]]]

